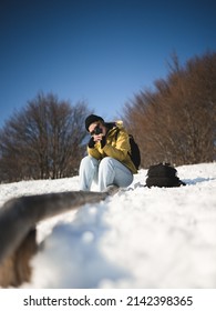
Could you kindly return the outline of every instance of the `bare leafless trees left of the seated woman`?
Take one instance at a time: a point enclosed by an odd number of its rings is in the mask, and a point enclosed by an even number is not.
[[[0,130],[0,181],[78,174],[85,150],[84,102],[71,106],[39,93]]]

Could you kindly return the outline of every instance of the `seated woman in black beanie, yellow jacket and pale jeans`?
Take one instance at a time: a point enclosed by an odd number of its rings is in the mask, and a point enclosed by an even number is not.
[[[130,157],[128,134],[122,122],[105,123],[101,117],[90,114],[85,119],[85,128],[91,139],[88,156],[80,164],[80,189],[91,190],[93,181],[100,191],[111,184],[128,187],[137,170]]]

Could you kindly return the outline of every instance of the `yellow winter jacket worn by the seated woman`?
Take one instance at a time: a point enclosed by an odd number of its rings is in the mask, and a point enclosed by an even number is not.
[[[128,134],[122,127],[122,123],[115,123],[106,133],[106,143],[101,148],[101,143],[96,142],[94,148],[88,147],[88,154],[102,160],[105,157],[116,159],[122,164],[127,167],[132,173],[137,173],[137,170],[130,157],[131,146]]]

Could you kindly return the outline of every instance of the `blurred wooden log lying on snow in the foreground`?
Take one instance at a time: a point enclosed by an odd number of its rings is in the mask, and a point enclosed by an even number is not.
[[[30,281],[29,261],[38,251],[35,225],[39,221],[105,200],[116,191],[112,185],[104,192],[70,191],[6,202],[0,209],[0,285],[18,287]]]

